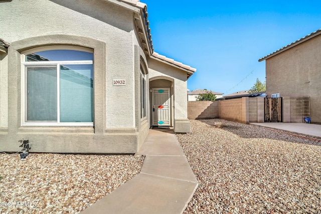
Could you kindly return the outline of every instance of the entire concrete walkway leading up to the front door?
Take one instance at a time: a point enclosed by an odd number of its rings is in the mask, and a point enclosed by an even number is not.
[[[198,181],[172,130],[149,130],[140,173],[82,213],[182,213]]]

